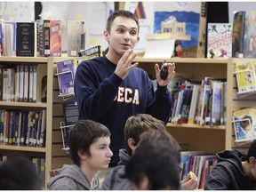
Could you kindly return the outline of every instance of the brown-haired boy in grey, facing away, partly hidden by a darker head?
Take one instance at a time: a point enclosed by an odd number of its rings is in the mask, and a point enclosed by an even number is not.
[[[125,149],[124,148],[120,149],[119,151],[120,161],[118,163],[118,166],[116,166],[115,168],[111,169],[108,172],[102,184],[101,189],[103,190],[131,189],[130,181],[124,178],[125,166],[131,159],[131,156],[134,153],[135,148],[137,148],[138,146],[138,143],[140,141],[140,135],[143,132],[148,132],[150,130],[160,130],[160,131],[166,132],[164,123],[148,114],[138,114],[135,116],[131,116],[127,119],[126,124],[124,126],[124,138],[126,141],[124,144]],[[179,151],[177,152],[179,155],[180,154],[179,144],[174,138],[172,138],[171,134],[169,134],[168,132],[166,132],[166,134],[169,135],[167,137],[168,139],[166,139],[169,142],[168,147],[172,146],[172,148],[175,148],[176,151]],[[163,142],[166,144],[165,141]],[[186,180],[186,182],[182,184],[183,189],[195,189],[197,188],[197,186],[198,186],[198,182],[195,174],[193,174],[193,178],[191,180]]]

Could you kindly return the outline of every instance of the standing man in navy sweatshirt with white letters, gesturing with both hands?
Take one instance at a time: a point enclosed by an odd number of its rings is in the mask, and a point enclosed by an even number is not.
[[[119,161],[118,151],[124,148],[124,124],[129,116],[148,113],[167,123],[171,116],[172,100],[167,84],[175,74],[174,63],[165,63],[168,76],[162,79],[158,64],[155,66],[158,87],[146,71],[132,64],[139,42],[139,22],[128,11],[113,12],[107,21],[104,36],[108,53],[86,60],[76,69],[75,94],[80,119],[92,119],[108,127],[111,132],[110,148],[114,153],[109,166]]]

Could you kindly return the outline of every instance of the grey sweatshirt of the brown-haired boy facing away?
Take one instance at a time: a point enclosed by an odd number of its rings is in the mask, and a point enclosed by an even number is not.
[[[120,161],[109,170],[101,186],[101,190],[131,190],[131,183],[124,178],[125,166],[131,159],[124,148],[119,150]]]

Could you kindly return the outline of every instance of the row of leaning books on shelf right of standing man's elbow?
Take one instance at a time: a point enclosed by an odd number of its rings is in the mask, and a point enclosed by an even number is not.
[[[172,89],[172,124],[226,124],[226,79],[204,77],[201,84],[185,82]]]

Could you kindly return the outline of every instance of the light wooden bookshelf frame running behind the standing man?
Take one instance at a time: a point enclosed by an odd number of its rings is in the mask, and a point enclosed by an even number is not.
[[[45,188],[48,173],[52,169],[58,169],[63,164],[72,164],[68,154],[63,150],[60,132],[60,122],[63,121],[64,100],[59,97],[59,84],[57,78],[57,62],[76,58],[28,58],[28,57],[0,57],[1,65],[38,64],[37,68],[37,102],[6,102],[0,101],[0,108],[15,109],[46,109],[46,141],[45,148],[31,148],[19,146],[0,145],[0,154],[20,156],[40,156],[45,158]],[[154,78],[155,63],[162,64],[166,59],[136,58],[139,67],[148,72],[148,76]],[[172,58],[167,61],[175,62],[176,75],[188,77],[191,81],[201,81],[205,76],[227,78],[227,126],[209,126],[198,124],[167,124],[166,129],[180,143],[186,144],[188,150],[204,150],[216,153],[224,149],[240,148],[246,150],[246,146],[237,147],[234,143],[234,131],[232,127],[232,111],[246,105],[253,105],[255,101],[236,98],[236,79],[234,77],[234,62],[236,59],[196,59],[196,58]],[[41,102],[42,77],[47,75],[47,102]]]

